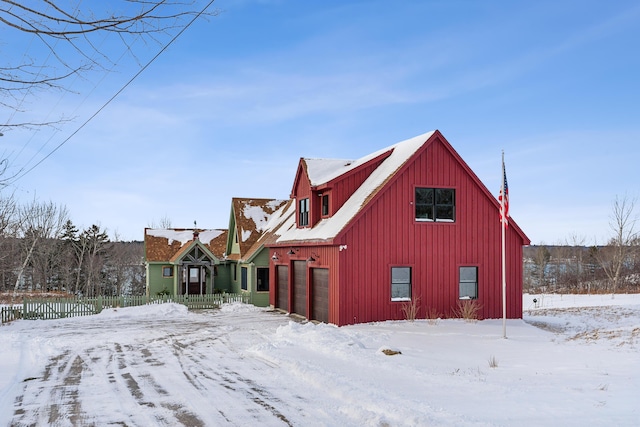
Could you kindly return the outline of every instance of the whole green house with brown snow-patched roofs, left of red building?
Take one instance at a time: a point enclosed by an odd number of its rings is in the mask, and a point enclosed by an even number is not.
[[[290,200],[233,198],[229,229],[145,229],[149,295],[248,294],[269,305],[265,243],[293,217]]]

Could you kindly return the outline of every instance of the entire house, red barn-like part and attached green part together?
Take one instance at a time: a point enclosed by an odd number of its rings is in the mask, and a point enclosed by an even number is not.
[[[502,317],[500,205],[439,131],[358,160],[302,158],[290,200],[231,203],[227,230],[145,230],[147,290],[247,294],[260,306],[348,325]],[[522,248],[506,229],[507,317],[522,317]]]

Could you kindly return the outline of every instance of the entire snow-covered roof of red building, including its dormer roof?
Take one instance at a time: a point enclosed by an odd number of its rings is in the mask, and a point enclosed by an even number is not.
[[[282,227],[283,231],[277,243],[301,240],[326,241],[336,237],[434,133],[435,131],[432,131],[415,136],[354,161],[302,159],[306,164],[306,173],[311,185],[319,186],[376,157],[390,153],[333,216],[322,219],[313,228],[296,228],[295,223],[288,228]]]

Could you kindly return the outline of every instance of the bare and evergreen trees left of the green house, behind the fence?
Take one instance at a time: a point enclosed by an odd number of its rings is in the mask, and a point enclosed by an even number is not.
[[[143,250],[142,242],[111,241],[98,225],[78,229],[52,202],[0,198],[0,291],[141,295]]]

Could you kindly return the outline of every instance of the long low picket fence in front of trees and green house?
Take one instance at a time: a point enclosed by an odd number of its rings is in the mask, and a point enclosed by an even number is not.
[[[248,303],[248,294],[207,294],[207,295],[158,295],[119,296],[96,298],[43,298],[24,299],[22,304],[1,307],[2,323],[16,319],[63,319],[66,317],[89,316],[100,313],[105,308],[135,307],[147,304],[177,303],[190,310],[218,308],[224,303]]]

